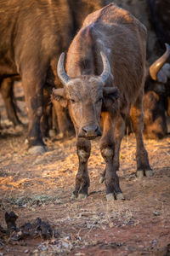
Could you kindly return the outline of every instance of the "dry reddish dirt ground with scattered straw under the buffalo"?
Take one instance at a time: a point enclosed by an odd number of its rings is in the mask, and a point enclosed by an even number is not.
[[[4,113],[0,100],[0,110]],[[23,104],[23,103],[20,103]],[[26,123],[26,117],[22,117]],[[107,202],[99,141],[88,162],[89,196],[71,201],[77,174],[76,140],[48,140],[48,152],[30,155],[26,131],[14,130],[3,115],[0,135],[0,225],[5,212],[18,227],[42,218],[57,236],[0,240],[0,255],[170,255],[170,136],[144,140],[154,176],[135,177],[135,138],[123,138],[118,175],[125,201]]]

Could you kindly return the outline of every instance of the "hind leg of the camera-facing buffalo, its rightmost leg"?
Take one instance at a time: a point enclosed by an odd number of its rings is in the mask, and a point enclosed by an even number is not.
[[[136,176],[142,178],[144,176],[152,176],[150,163],[148,159],[148,153],[144,148],[143,140],[143,127],[144,127],[144,113],[143,113],[143,97],[140,94],[139,98],[133,104],[130,111],[133,131],[136,137],[136,161],[137,161],[137,172]]]

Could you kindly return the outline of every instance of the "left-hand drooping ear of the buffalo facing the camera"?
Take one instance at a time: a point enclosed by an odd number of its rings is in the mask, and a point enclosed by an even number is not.
[[[52,92],[52,101],[57,101],[63,108],[67,106],[67,96],[65,88],[54,89]]]

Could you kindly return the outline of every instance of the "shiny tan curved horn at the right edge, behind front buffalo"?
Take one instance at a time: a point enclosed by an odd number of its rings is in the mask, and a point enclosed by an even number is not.
[[[167,61],[167,58],[170,54],[170,46],[169,44],[165,44],[166,46],[166,51],[157,61],[155,61],[151,66],[150,66],[150,77],[151,79],[155,80],[157,79],[157,73],[161,70],[161,67],[165,64]]]

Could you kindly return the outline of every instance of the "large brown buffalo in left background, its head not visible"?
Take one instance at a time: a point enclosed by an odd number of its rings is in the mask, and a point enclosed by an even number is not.
[[[103,7],[105,1],[79,1],[78,5],[84,8],[75,16],[77,4],[69,0],[0,1],[0,81],[20,75],[26,96],[31,153],[46,150],[40,129],[43,89],[50,92],[54,86],[61,86],[56,74],[59,54],[68,49],[88,12]],[[65,131],[68,119],[59,114],[64,111],[59,104],[56,108],[59,130]]]

